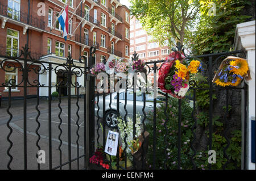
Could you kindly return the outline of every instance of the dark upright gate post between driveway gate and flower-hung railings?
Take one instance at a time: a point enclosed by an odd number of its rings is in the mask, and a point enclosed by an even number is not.
[[[90,47],[90,54],[89,54],[89,62],[88,66],[92,66],[95,64],[95,57],[92,56],[93,53],[96,52],[95,47]],[[94,90],[95,90],[95,78],[92,76],[88,76],[89,86],[88,86],[88,118],[89,118],[89,157],[94,154]]]

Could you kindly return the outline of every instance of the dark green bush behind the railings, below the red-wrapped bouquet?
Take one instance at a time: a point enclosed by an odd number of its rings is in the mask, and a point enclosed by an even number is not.
[[[178,115],[179,106],[178,99],[169,98],[167,115],[168,121],[166,121],[166,114],[164,113],[166,105],[161,104],[156,110],[156,165],[155,169],[164,169],[164,163],[166,162],[167,169],[177,169],[177,129],[178,129]],[[194,151],[191,148],[191,142],[193,141],[193,133],[191,131],[193,124],[195,123],[192,118],[193,108],[190,106],[188,100],[181,100],[181,167],[182,169],[193,169],[191,158]],[[209,115],[208,112],[198,112],[195,114],[197,120],[197,127],[204,129],[205,135],[209,138],[209,131],[205,128],[209,127]],[[153,113],[149,112],[149,121],[146,124],[146,131],[150,133],[149,150],[153,150]],[[164,127],[166,124],[166,128]],[[213,135],[212,135],[212,149],[216,150],[216,164],[212,164],[212,169],[222,169],[227,159],[224,156],[224,148],[227,145],[227,141],[223,136],[224,127],[220,122],[219,116],[213,117]],[[196,131],[195,131],[196,132]],[[241,167],[241,131],[230,131],[230,145],[226,150],[230,161],[226,166],[226,169],[239,169]],[[166,136],[166,141],[164,140]],[[201,144],[201,143],[199,143]],[[209,146],[207,146],[209,147]],[[167,148],[167,149],[166,149]],[[193,161],[195,162],[196,169],[208,169],[208,150],[196,150]],[[166,159],[167,158],[167,159]],[[147,168],[152,169],[153,165],[153,151],[147,153]]]

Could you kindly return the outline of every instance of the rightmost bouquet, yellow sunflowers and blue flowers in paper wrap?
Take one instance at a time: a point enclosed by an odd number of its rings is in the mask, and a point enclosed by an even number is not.
[[[248,71],[249,66],[245,59],[229,56],[222,61],[213,82],[222,87],[238,86]]]

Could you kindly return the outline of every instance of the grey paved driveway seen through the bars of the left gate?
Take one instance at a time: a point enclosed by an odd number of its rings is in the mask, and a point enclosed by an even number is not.
[[[58,107],[59,100],[52,101],[52,167],[56,167],[60,165],[60,140],[59,134],[60,129],[60,119],[58,114],[60,109]],[[79,121],[77,122],[77,106],[76,106],[76,98],[73,98],[71,101],[71,153],[72,159],[77,157],[77,129],[79,128],[79,155],[84,154],[84,102],[83,99],[79,99]],[[10,132],[10,129],[7,128],[7,121],[10,119],[10,115],[6,112],[8,102],[2,101],[2,107],[0,108],[0,169],[7,169],[7,163],[10,160],[10,157],[7,155],[7,149],[10,146],[10,143],[7,141],[7,136]],[[36,134],[36,128],[38,127],[38,123],[36,123],[35,119],[38,115],[38,111],[36,111],[36,99],[28,99],[27,100],[27,168],[28,169],[37,169],[37,161],[36,161],[36,153],[38,151],[38,147],[36,146],[36,141],[38,140],[38,135]],[[49,153],[49,134],[48,134],[48,100],[40,99],[39,104],[40,116],[39,116],[39,134],[40,141],[39,146],[40,149],[46,151],[46,163],[41,164],[41,169],[48,169],[48,153]],[[62,123],[60,128],[62,129],[62,134],[60,136],[63,141],[61,145],[61,155],[62,155],[62,163],[68,161],[68,99],[63,99],[61,102],[61,108],[63,109],[61,112]],[[23,125],[23,100],[12,100],[10,112],[13,114],[13,119],[10,122],[10,127],[13,129],[13,133],[11,133],[10,140],[13,142],[13,146],[10,150],[10,154],[13,156],[13,161],[11,162],[11,169],[23,169],[24,168],[24,152],[23,152],[23,136],[24,136],[24,125]],[[96,119],[97,120],[97,119]],[[100,120],[102,121],[102,120]],[[96,122],[96,121],[95,121]],[[79,124],[79,127],[77,126]],[[97,129],[97,126],[96,126]],[[100,138],[102,139],[102,131],[100,128]],[[102,140],[100,140],[102,142]],[[72,169],[77,169],[77,161],[72,162]],[[84,158],[81,158],[79,161],[80,169],[84,167]],[[68,169],[68,165],[64,166],[63,169]]]

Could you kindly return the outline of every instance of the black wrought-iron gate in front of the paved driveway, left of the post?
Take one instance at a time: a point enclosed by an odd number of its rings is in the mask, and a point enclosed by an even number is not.
[[[1,116],[9,115],[7,142],[1,143],[1,151],[7,148],[7,155],[1,158],[1,166],[6,163],[7,169],[86,169],[88,105],[85,93],[80,94],[86,89],[86,57],[81,56],[76,62],[70,56],[64,63],[40,61],[31,57],[27,45],[18,54],[18,57],[0,56],[0,73],[5,75],[0,87],[4,89],[3,98],[7,99],[2,101],[6,112],[2,109]],[[52,74],[65,80],[53,79]],[[43,75],[46,76],[42,78]],[[78,82],[77,78],[82,79]],[[23,101],[13,99],[17,92]],[[23,124],[18,124],[20,121]],[[22,133],[23,139],[16,132]]]

